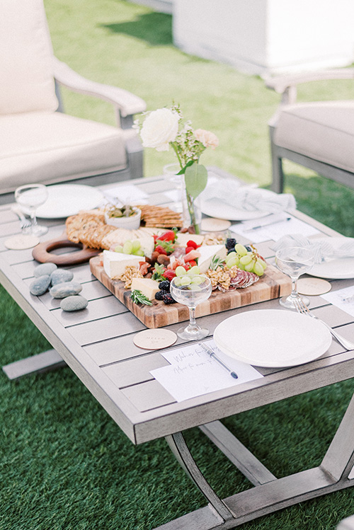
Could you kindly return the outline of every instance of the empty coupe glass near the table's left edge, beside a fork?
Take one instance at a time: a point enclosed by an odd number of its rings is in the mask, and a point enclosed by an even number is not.
[[[47,226],[40,226],[35,217],[37,208],[44,204],[47,198],[48,190],[43,184],[26,184],[15,190],[16,202],[20,205],[23,213],[30,216],[29,234],[33,234],[33,236],[47,234]]]

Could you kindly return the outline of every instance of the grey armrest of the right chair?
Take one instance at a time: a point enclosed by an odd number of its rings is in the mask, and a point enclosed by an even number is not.
[[[295,103],[297,85],[309,81],[326,81],[331,79],[354,79],[354,68],[338,68],[303,72],[290,76],[275,76],[265,79],[265,86],[282,94],[282,104]]]

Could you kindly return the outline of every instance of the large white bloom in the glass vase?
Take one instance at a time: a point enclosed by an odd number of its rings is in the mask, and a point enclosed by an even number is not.
[[[169,142],[176,139],[179,116],[168,108],[153,110],[140,131],[142,145],[154,147],[156,151],[169,151]]]

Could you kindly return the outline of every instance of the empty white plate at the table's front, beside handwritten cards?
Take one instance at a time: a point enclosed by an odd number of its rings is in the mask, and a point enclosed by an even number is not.
[[[215,329],[217,347],[230,357],[260,367],[292,367],[321,357],[331,333],[320,321],[281,309],[247,311]]]

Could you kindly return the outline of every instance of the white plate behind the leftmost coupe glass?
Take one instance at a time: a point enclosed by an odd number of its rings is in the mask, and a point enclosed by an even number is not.
[[[76,215],[81,209],[96,208],[103,200],[97,188],[81,184],[47,186],[48,198],[37,210],[37,217],[59,219]]]

